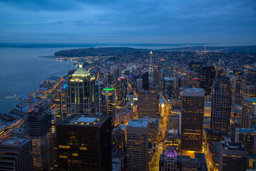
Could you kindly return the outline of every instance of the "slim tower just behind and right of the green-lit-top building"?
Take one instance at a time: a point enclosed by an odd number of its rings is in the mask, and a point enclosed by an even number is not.
[[[127,76],[120,76],[116,82],[116,104],[117,107],[124,107],[128,89]]]

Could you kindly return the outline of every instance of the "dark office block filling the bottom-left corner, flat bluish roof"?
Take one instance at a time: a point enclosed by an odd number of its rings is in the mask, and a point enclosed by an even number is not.
[[[0,170],[33,171],[32,140],[6,139],[0,143]]]

